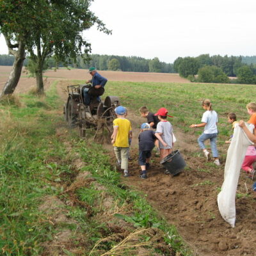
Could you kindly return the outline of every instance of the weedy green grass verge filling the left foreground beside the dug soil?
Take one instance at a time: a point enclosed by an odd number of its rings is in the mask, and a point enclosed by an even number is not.
[[[84,171],[91,172],[93,179],[107,189],[102,192],[92,184],[74,190],[72,196],[92,205],[93,216],[102,211],[101,206],[99,208],[102,196],[111,196],[116,209],[124,210],[119,216],[113,216],[116,221],[122,218],[131,224],[134,232],[141,228],[146,230],[140,235],[140,242],[146,243],[144,246],[151,246],[153,251],[159,250],[154,248],[154,243],[150,242],[152,237],[147,234],[150,228],[157,228],[159,234],[163,232],[166,246],[170,244],[180,255],[191,255],[175,227],[159,217],[143,195],[120,184],[120,175],[109,163],[101,145],[85,145],[77,137],[77,132],[72,131],[67,133],[71,147],[67,148],[65,140],[56,136],[56,129],[65,125],[60,116],[62,104],[56,85],[53,83],[44,97],[20,95],[19,106],[15,104],[17,100],[0,104],[3,113],[0,124],[1,255],[40,255],[45,250],[42,243],[52,241],[56,232],[66,229],[75,237],[73,246],[88,255],[95,243],[115,234],[106,223],[90,218],[81,205],[63,206],[67,217],[75,220],[74,223],[53,224],[51,216],[38,208],[47,195],[57,196],[64,202],[70,200],[65,189],[72,184],[78,172]],[[77,156],[84,162],[80,170],[73,164]],[[77,237],[86,237],[86,246]],[[100,250],[110,252],[113,246],[118,246],[118,241],[104,242],[100,244]],[[69,248],[63,252],[76,255]],[[122,255],[131,255],[129,252],[124,250]],[[92,255],[98,254],[92,252]]]

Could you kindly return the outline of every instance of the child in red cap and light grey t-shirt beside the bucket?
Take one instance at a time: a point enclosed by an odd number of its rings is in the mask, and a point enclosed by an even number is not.
[[[166,108],[160,108],[155,116],[158,116],[159,123],[156,127],[156,133],[161,136],[159,141],[159,148],[160,148],[160,158],[161,160],[172,153],[173,148],[173,133],[172,133],[172,124],[166,120],[168,111]],[[173,116],[170,116],[173,117]],[[168,170],[165,171],[166,174],[170,174]]]

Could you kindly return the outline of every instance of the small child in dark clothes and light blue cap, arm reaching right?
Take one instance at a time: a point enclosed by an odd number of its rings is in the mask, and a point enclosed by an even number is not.
[[[147,179],[147,170],[150,167],[151,151],[155,147],[156,137],[163,145],[167,146],[161,136],[150,129],[148,123],[141,124],[141,132],[139,135],[139,164],[141,167],[141,179]]]

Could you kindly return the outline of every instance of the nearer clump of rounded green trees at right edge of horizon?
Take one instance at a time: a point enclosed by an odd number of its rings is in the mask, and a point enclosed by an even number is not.
[[[248,62],[244,63],[243,60]],[[179,57],[174,61],[173,67],[180,76],[192,82],[256,84],[256,64],[252,60],[254,59],[248,56],[201,54],[197,57]],[[237,79],[230,80],[228,77]]]

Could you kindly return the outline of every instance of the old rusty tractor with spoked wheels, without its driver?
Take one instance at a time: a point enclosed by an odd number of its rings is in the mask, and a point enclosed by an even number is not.
[[[107,96],[102,102],[92,97],[90,105],[84,104],[83,90],[90,89],[91,84],[74,84],[67,86],[68,99],[63,113],[68,127],[79,127],[80,136],[85,138],[86,131],[95,131],[93,140],[108,131],[109,138],[113,131],[113,120],[116,118],[115,108],[120,105],[116,96]]]

